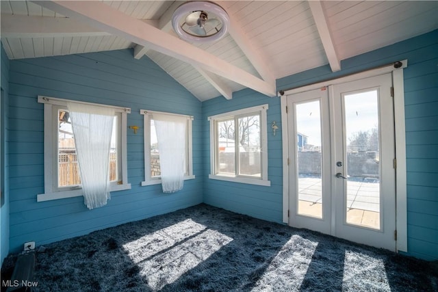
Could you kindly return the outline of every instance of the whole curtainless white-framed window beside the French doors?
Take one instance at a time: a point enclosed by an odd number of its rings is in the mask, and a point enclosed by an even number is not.
[[[268,105],[210,116],[209,178],[270,185],[268,181]]]

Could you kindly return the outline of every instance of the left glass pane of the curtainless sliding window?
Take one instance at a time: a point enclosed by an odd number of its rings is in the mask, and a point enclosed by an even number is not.
[[[216,173],[235,174],[235,141],[234,120],[222,120],[216,124],[217,137],[217,165]]]

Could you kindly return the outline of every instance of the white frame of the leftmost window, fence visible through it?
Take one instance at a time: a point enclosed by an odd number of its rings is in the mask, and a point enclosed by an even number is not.
[[[67,102],[82,103],[86,105],[95,105],[99,107],[111,107],[120,115],[120,133],[118,133],[118,182],[110,184],[110,191],[121,191],[123,189],[131,189],[131,184],[128,183],[127,171],[127,114],[131,113],[131,109],[127,107],[115,107],[112,105],[101,105],[98,103],[86,103],[81,101],[70,101],[62,98],[54,98],[49,96],[38,96],[38,103],[44,104],[44,194],[38,194],[37,202],[47,200],[57,200],[63,198],[72,198],[83,196],[81,187],[57,187],[57,127],[53,127],[53,110],[67,106]]]

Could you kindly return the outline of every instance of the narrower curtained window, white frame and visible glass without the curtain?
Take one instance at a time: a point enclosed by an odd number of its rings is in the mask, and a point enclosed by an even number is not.
[[[142,185],[157,185],[162,183],[161,170],[159,165],[159,147],[157,142],[157,133],[155,132],[155,124],[153,114],[162,114],[171,116],[181,116],[187,118],[187,131],[185,133],[185,174],[184,179],[192,179],[192,116],[184,116],[179,114],[170,114],[160,111],[140,110],[140,114],[144,115],[144,181]]]

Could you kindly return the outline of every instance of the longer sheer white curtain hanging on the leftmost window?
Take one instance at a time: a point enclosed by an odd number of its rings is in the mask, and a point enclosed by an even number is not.
[[[88,209],[105,206],[110,196],[110,147],[114,109],[67,103]]]

